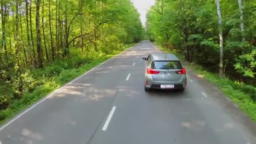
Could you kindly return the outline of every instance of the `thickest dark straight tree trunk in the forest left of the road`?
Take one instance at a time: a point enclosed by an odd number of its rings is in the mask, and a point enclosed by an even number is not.
[[[40,35],[40,0],[36,1],[36,16],[35,16],[35,23],[36,23],[36,31],[37,31],[37,61],[38,67],[43,67],[43,60],[42,60],[42,48],[41,48],[41,35]]]

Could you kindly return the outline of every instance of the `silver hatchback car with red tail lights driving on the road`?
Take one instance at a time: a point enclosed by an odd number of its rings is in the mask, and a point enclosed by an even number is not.
[[[157,89],[179,89],[187,85],[186,69],[174,54],[152,53],[143,58],[146,62],[145,91]]]

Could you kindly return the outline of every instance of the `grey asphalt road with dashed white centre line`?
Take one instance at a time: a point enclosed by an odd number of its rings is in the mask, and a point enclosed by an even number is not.
[[[187,69],[186,90],[144,92],[143,41],[0,127],[0,144],[256,144],[255,124]]]

